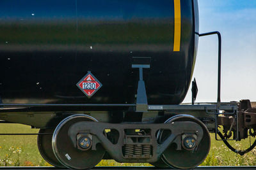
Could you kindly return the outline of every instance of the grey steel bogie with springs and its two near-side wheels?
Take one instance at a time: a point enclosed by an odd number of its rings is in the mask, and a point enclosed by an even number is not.
[[[209,152],[209,132],[191,115],[178,115],[165,124],[108,124],[92,120],[95,119],[86,115],[72,115],[56,127],[52,148],[64,166],[87,169],[95,166],[108,152],[117,162],[154,164],[163,159],[167,166],[187,169],[197,166]],[[118,134],[115,141],[106,134],[110,129]],[[166,135],[166,130],[170,134]],[[171,150],[172,144],[177,148]],[[178,150],[175,157],[181,154],[189,163],[182,166],[170,157],[175,150]]]

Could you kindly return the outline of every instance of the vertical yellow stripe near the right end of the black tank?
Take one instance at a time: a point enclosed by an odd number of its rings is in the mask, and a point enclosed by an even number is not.
[[[173,52],[180,51],[180,32],[181,32],[181,17],[180,17],[180,0],[174,1],[174,42]]]

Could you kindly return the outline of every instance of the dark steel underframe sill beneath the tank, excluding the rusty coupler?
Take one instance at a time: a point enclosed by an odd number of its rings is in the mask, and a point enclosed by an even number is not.
[[[127,112],[131,112],[134,116],[140,114],[135,112],[136,104],[0,104],[0,107],[1,120],[43,129],[58,124],[56,123],[58,118],[74,114],[90,115],[100,122],[111,122],[115,113],[122,118]],[[233,113],[236,109],[236,103],[148,105],[148,111],[142,113],[141,121],[152,123],[157,117],[189,114],[202,120],[209,131],[214,132],[216,115],[220,115],[220,111],[223,110],[236,115]],[[120,120],[122,121],[125,120]]]

